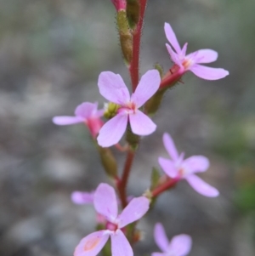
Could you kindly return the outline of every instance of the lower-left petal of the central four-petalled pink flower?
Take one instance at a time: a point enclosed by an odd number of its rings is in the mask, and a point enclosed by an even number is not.
[[[127,114],[117,114],[116,117],[111,118],[105,122],[103,127],[99,130],[98,143],[100,146],[109,147],[115,145],[122,139],[122,135],[127,128]]]

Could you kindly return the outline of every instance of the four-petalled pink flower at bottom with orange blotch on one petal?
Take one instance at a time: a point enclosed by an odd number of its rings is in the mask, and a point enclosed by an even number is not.
[[[94,192],[94,208],[107,220],[107,230],[99,230],[85,236],[77,245],[74,256],[95,256],[105,246],[111,236],[111,253],[114,256],[133,256],[133,250],[122,232],[122,228],[144,216],[150,202],[140,196],[133,198],[118,214],[116,192],[105,183],[101,183]]]

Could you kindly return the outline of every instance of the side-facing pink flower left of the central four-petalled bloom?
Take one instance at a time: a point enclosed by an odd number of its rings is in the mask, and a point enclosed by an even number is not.
[[[83,102],[78,105],[75,111],[76,117],[54,117],[53,122],[57,125],[69,125],[78,122],[84,122],[93,138],[99,134],[99,129],[103,126],[100,119],[104,114],[104,110],[98,110],[98,103]]]

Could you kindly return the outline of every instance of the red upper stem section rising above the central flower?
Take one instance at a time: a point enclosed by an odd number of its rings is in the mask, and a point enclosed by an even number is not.
[[[133,57],[129,66],[133,92],[137,87],[137,85],[139,84],[139,52],[140,52],[141,32],[143,29],[144,12],[146,8],[146,3],[147,3],[147,0],[139,0],[139,4],[140,4],[139,23],[136,26],[135,31],[133,31]]]

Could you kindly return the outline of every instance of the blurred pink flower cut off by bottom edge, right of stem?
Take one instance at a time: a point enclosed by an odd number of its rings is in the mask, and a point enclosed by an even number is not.
[[[151,256],[184,256],[190,253],[191,237],[188,235],[173,236],[168,242],[166,232],[160,223],[155,225],[154,239],[163,253],[152,253]]]

